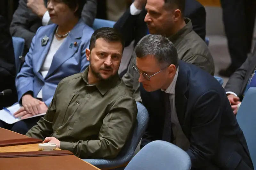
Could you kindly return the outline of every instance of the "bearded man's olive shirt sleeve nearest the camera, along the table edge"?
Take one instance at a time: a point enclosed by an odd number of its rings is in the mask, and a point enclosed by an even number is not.
[[[137,116],[135,100],[130,96],[118,99],[103,119],[97,140],[60,142],[60,149],[69,150],[81,159],[113,159],[124,146]]]

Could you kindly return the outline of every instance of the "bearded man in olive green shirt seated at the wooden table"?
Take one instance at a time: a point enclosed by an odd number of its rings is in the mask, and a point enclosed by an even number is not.
[[[90,66],[59,83],[46,115],[26,135],[81,159],[115,158],[137,115],[136,101],[117,73],[123,49],[113,28],[96,30],[86,49]]]

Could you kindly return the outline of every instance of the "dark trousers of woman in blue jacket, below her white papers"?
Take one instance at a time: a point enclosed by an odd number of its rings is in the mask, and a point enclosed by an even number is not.
[[[21,120],[13,124],[7,124],[0,120],[0,128],[12,130],[13,132],[26,135],[28,130],[31,129],[33,126],[35,126],[41,117],[43,116],[37,116],[37,117]]]

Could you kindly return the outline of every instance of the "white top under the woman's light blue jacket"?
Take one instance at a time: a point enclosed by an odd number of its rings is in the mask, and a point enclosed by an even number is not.
[[[42,74],[43,78],[46,77],[46,75],[51,67],[53,56],[55,55],[57,50],[60,48],[61,44],[64,42],[65,39],[66,38],[57,40],[56,36],[55,35],[53,36],[50,50],[49,50],[48,54],[46,55],[44,63],[40,69],[40,73]],[[44,88],[44,86],[42,88]],[[39,91],[39,93],[37,94],[36,97],[43,99],[42,89]]]

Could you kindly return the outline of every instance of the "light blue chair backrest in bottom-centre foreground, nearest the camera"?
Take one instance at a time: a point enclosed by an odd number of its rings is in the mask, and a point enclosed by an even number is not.
[[[144,146],[124,170],[189,170],[191,160],[178,146],[165,141],[153,141]]]

